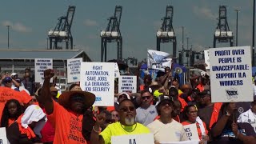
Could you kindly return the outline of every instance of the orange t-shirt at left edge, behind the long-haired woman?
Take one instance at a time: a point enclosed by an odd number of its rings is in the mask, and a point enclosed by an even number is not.
[[[31,101],[31,97],[26,92],[13,90],[9,87],[0,86],[0,119],[2,118],[2,110],[6,102],[10,99],[16,99],[21,104],[26,104]]]

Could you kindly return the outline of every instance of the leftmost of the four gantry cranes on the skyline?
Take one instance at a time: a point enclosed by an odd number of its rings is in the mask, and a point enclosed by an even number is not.
[[[58,46],[59,42],[66,42],[66,49],[73,49],[71,26],[74,18],[74,11],[75,6],[69,6],[66,16],[58,18],[57,26],[55,26],[54,30],[48,32],[50,49],[62,49],[62,46]]]

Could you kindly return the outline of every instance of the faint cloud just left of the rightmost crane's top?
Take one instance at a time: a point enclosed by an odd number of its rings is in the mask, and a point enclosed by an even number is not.
[[[206,18],[211,20],[215,20],[216,18],[218,18],[218,15],[213,14],[213,12],[207,7],[194,6],[193,12],[200,18]]]

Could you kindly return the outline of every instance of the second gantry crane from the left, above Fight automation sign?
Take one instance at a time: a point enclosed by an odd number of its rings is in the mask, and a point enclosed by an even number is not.
[[[109,23],[106,26],[106,30],[101,31],[102,38],[102,50],[101,50],[101,61],[105,56],[106,62],[106,43],[117,42],[118,46],[118,60],[122,60],[122,35],[120,32],[120,22],[122,16],[122,6],[115,6],[114,16],[109,18]]]

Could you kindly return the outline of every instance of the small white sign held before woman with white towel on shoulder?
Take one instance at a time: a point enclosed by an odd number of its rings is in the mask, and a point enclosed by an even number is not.
[[[186,137],[189,138],[189,140],[199,140],[198,137],[198,130],[197,130],[197,125],[194,124],[190,124],[190,125],[186,125],[183,126],[184,130],[186,132]]]

